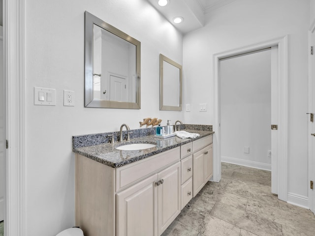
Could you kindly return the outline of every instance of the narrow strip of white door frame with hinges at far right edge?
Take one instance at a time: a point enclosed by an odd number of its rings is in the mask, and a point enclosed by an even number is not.
[[[313,25],[311,26],[310,30],[309,30],[309,49],[311,50],[311,46],[315,46],[313,44],[313,41],[315,41],[315,38],[313,38],[313,33],[315,33],[315,22],[313,23]],[[309,99],[309,105],[308,105],[308,113],[314,113],[315,111],[313,110],[313,107],[315,104],[313,104],[313,97],[314,97],[314,92],[313,92],[313,81],[315,80],[315,72],[313,72],[314,66],[313,64],[314,62],[314,56],[315,55],[311,55],[311,52],[308,53],[309,54],[309,81],[308,81],[308,87],[309,87],[309,93],[308,93],[308,99]],[[311,133],[314,132],[313,130],[313,123],[310,121],[310,117],[308,116],[308,155],[309,155],[309,159],[308,159],[308,180],[309,183],[311,180],[315,181],[315,175],[313,174],[314,170],[315,170],[315,153],[313,151],[313,149],[315,147],[313,147],[313,139],[314,137],[311,136]],[[311,211],[313,211],[315,213],[315,192],[314,190],[312,190],[310,187],[308,187],[308,195],[309,195],[309,208]]]

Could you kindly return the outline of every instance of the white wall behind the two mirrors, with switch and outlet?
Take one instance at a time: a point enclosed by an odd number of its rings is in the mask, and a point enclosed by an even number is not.
[[[75,224],[72,135],[139,128],[158,109],[159,54],[182,64],[182,35],[146,0],[28,0],[26,5],[27,236],[55,236]],[[84,11],[141,42],[141,110],[84,108]],[[33,87],[56,89],[56,106],[34,106]],[[75,106],[63,106],[63,89]]]

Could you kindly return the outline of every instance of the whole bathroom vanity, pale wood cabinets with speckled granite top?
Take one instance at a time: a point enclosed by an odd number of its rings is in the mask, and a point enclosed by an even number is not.
[[[212,177],[212,130],[188,131],[200,137],[162,140],[146,135],[86,147],[77,146],[89,138],[73,137],[76,225],[85,236],[160,236],[164,232]],[[156,146],[117,149],[130,142]]]

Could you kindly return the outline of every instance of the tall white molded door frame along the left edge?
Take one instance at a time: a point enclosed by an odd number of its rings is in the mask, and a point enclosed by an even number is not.
[[[3,0],[4,235],[26,235],[25,1]]]

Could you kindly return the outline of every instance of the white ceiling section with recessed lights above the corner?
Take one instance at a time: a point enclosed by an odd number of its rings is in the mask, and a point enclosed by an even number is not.
[[[170,0],[167,6],[158,5],[158,0],[148,0],[175,28],[182,33],[204,26],[205,14],[236,0]],[[173,18],[181,16],[184,21],[175,24]]]

